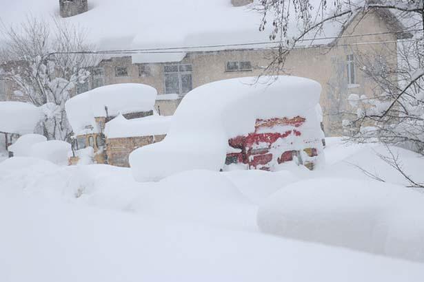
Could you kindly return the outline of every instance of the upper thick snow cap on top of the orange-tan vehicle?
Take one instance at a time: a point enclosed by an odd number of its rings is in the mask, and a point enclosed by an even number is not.
[[[68,100],[65,103],[66,115],[77,135],[90,125],[93,132],[99,132],[94,118],[117,116],[119,113],[152,111],[156,96],[157,90],[148,85],[138,83],[107,85]]]

